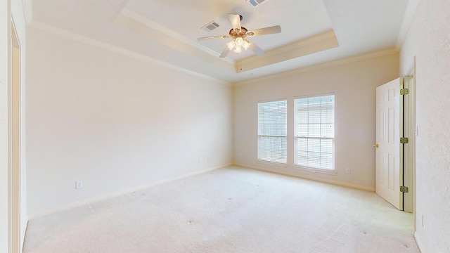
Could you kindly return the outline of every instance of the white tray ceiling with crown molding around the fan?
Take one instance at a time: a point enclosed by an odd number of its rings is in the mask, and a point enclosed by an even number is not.
[[[30,25],[72,34],[188,72],[240,82],[394,48],[409,24],[408,0],[32,0]],[[250,38],[266,53],[219,58],[231,39],[228,13],[248,30],[281,25]],[[215,21],[212,32],[201,28]],[[64,31],[64,32],[62,32]],[[74,35],[76,34],[76,35]]]

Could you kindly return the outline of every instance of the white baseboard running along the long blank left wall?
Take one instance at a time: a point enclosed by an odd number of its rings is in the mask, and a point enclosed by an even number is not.
[[[221,165],[221,166],[218,166],[218,167],[211,167],[211,168],[208,168],[208,169],[202,169],[202,170],[199,170],[199,171],[194,171],[194,172],[191,172],[191,173],[188,173],[188,174],[183,174],[181,176],[176,176],[176,177],[173,177],[173,178],[170,178],[170,179],[164,179],[164,180],[160,180],[160,181],[155,181],[153,183],[148,183],[148,184],[145,184],[143,186],[137,186],[135,188],[129,188],[127,190],[120,190],[120,191],[117,191],[115,193],[109,193],[109,194],[101,195],[101,196],[98,196],[98,197],[90,197],[90,198],[88,198],[86,200],[72,202],[72,203],[69,203],[69,204],[66,204],[66,205],[60,205],[58,207],[52,207],[52,208],[45,209],[45,210],[40,211],[40,212],[35,212],[33,214],[28,214],[28,218],[30,220],[31,219],[36,219],[38,217],[45,216],[45,215],[48,215],[48,214],[54,214],[54,213],[57,213],[57,212],[62,212],[62,211],[65,211],[65,210],[68,210],[68,209],[72,209],[72,208],[75,208],[75,207],[82,207],[84,205],[89,205],[89,204],[91,204],[93,202],[98,202],[98,201],[102,201],[102,200],[108,200],[110,198],[118,197],[120,195],[133,193],[133,192],[135,192],[137,190],[143,190],[145,188],[158,186],[158,185],[160,185],[162,183],[168,183],[168,182],[171,182],[171,181],[184,179],[184,178],[187,178],[189,176],[195,176],[195,175],[198,175],[198,174],[203,174],[205,172],[213,171],[215,169],[221,169],[221,168],[228,167],[228,166],[231,166],[231,163],[230,164],[224,164],[224,165]]]

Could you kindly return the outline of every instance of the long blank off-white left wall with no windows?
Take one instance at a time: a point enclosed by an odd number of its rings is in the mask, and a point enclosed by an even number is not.
[[[231,164],[228,84],[32,27],[27,67],[30,215]]]

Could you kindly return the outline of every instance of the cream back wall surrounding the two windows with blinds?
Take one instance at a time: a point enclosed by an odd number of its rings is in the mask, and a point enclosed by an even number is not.
[[[236,164],[375,190],[375,88],[399,76],[398,53],[237,84],[233,89]],[[335,93],[335,175],[293,167],[293,99]],[[257,103],[288,98],[288,167],[257,162]],[[345,169],[351,174],[345,174]]]

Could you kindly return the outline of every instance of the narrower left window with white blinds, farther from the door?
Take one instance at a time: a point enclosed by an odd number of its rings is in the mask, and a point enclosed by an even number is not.
[[[288,101],[258,103],[258,160],[287,163]]]

